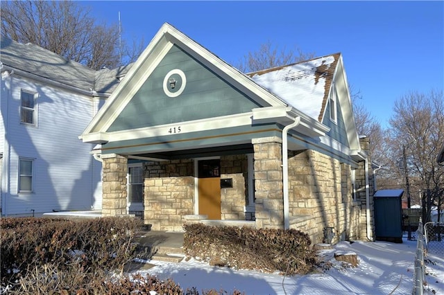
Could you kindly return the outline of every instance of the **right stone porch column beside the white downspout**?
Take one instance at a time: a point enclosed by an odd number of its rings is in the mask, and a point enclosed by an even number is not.
[[[253,140],[257,228],[284,228],[281,143],[278,137]]]

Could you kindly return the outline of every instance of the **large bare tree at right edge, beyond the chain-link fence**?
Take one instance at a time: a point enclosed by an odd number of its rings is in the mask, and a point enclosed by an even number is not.
[[[423,216],[427,222],[431,207],[441,208],[444,202],[444,167],[436,162],[444,141],[443,91],[407,93],[396,100],[393,111],[392,144],[387,147],[391,167],[399,170],[400,161],[406,161],[407,171],[401,169],[400,177],[407,178],[414,195],[422,192]]]

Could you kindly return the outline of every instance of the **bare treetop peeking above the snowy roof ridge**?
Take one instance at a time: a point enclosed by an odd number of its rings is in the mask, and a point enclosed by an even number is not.
[[[236,64],[237,69],[243,73],[270,69],[275,66],[284,66],[310,60],[314,53],[304,53],[296,47],[296,53],[293,50],[286,51],[273,46],[271,41],[262,44],[257,51],[249,52]]]

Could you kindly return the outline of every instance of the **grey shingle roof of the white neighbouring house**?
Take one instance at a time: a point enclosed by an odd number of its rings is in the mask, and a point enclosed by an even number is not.
[[[95,71],[35,44],[22,44],[3,36],[0,62],[2,66],[33,75],[34,78],[58,82],[88,93],[110,93],[119,83],[117,76],[126,73],[130,67]]]

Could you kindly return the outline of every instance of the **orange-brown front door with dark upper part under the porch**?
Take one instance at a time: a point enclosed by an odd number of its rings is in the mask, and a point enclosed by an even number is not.
[[[221,161],[198,161],[199,214],[221,220]]]

